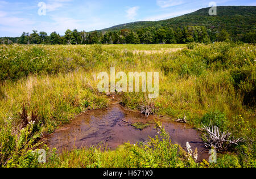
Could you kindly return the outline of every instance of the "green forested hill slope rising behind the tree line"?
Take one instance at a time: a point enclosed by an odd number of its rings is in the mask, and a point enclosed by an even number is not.
[[[117,31],[120,29],[139,29],[146,27],[166,26],[181,28],[190,25],[205,26],[207,29],[226,29],[236,35],[244,32],[255,31],[256,6],[218,6],[217,16],[209,15],[209,8],[202,8],[191,14],[156,22],[134,22],[115,25],[101,31]]]

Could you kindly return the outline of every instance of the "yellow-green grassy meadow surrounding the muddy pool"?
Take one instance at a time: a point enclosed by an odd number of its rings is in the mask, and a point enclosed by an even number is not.
[[[256,167],[255,45],[231,42],[170,45],[0,45],[0,167]],[[105,108],[97,74],[158,71],[159,97],[121,93],[126,108],[154,105],[173,121],[230,131],[244,142],[218,152],[217,163],[196,163],[166,140],[95,147],[57,155],[39,164],[31,152],[40,139],[86,110]],[[35,121],[31,123],[31,121]]]

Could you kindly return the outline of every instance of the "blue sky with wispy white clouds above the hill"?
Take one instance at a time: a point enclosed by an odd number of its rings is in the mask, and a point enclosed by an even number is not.
[[[141,20],[174,18],[214,0],[0,0],[0,37],[22,32],[100,30]],[[215,0],[217,6],[256,6],[255,0]]]

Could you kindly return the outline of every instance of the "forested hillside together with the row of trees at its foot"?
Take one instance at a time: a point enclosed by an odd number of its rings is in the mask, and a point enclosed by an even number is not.
[[[64,36],[52,32],[23,32],[19,40],[0,38],[2,44],[187,44],[189,42],[256,41],[256,6],[220,6],[217,15],[209,8],[158,22],[116,25],[101,31],[68,29]]]

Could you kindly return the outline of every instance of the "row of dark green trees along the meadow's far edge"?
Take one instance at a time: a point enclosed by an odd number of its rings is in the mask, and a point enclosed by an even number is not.
[[[255,43],[255,32],[246,33],[240,38],[243,42]],[[1,44],[187,44],[189,42],[210,43],[214,41],[232,40],[230,34],[222,29],[212,32],[204,26],[187,26],[183,28],[147,27],[137,30],[121,29],[119,31],[71,31],[68,29],[64,36],[52,32],[23,32],[20,37],[3,37]]]

